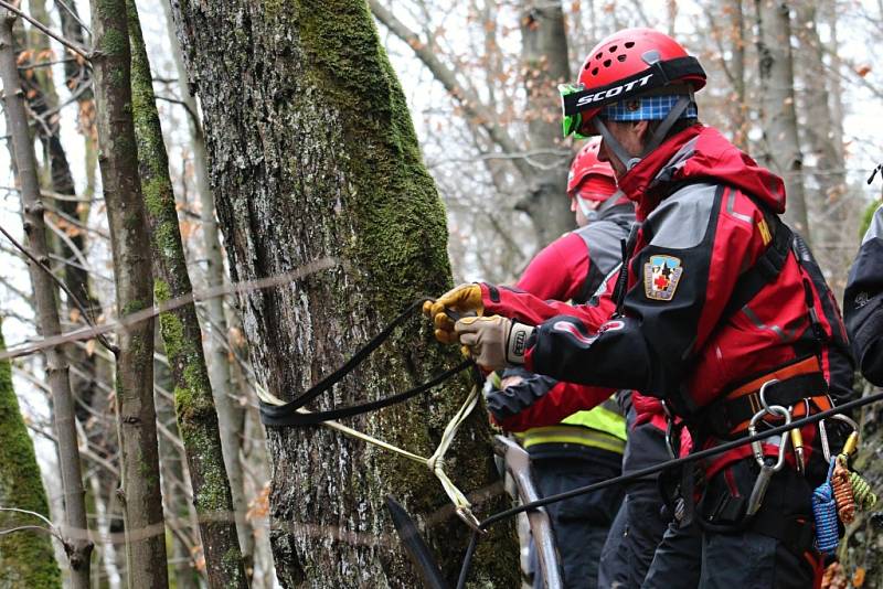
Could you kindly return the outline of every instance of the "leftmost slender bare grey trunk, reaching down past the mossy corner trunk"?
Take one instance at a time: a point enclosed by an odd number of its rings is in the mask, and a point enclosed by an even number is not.
[[[44,265],[49,261],[46,226],[43,221],[43,203],[36,176],[36,161],[33,142],[28,129],[24,100],[19,86],[19,72],[12,41],[14,17],[3,10],[0,13],[0,76],[3,79],[7,125],[12,136],[15,153],[15,168],[21,185],[22,208],[24,211],[24,233],[28,246],[34,257]],[[34,288],[36,311],[40,318],[40,333],[44,338],[61,333],[57,287],[38,266],[29,264],[31,282]],[[89,556],[93,544],[88,538],[86,522],[85,492],[79,469],[74,401],[71,394],[67,358],[62,346],[49,347],[45,352],[46,372],[55,418],[55,436],[64,494],[65,529],[63,535],[70,543],[68,559],[71,581],[75,589],[89,586]]]

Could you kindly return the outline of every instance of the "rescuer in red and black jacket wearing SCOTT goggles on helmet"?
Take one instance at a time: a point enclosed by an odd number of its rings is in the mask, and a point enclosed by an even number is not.
[[[600,159],[637,203],[640,225],[600,296],[616,311],[464,285],[427,303],[436,338],[469,346],[487,370],[523,364],[591,385],[577,399],[535,399],[521,420],[560,419],[630,388],[663,399],[696,449],[746,436],[753,418],[763,429],[851,396],[836,301],[778,216],[783,181],[698,121],[699,62],[668,35],[625,30],[592,51],[579,83],[562,92],[565,131],[600,135]],[[455,324],[448,309],[478,317]],[[828,465],[817,429],[801,432],[799,449],[789,437],[762,445],[766,469],[786,458],[768,478],[748,446],[685,469],[681,525],[667,531],[643,587],[811,587],[811,495]]]

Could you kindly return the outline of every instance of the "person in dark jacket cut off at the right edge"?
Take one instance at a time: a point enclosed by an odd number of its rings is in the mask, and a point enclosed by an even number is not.
[[[843,314],[859,368],[883,386],[883,206],[874,213],[850,269]]]

